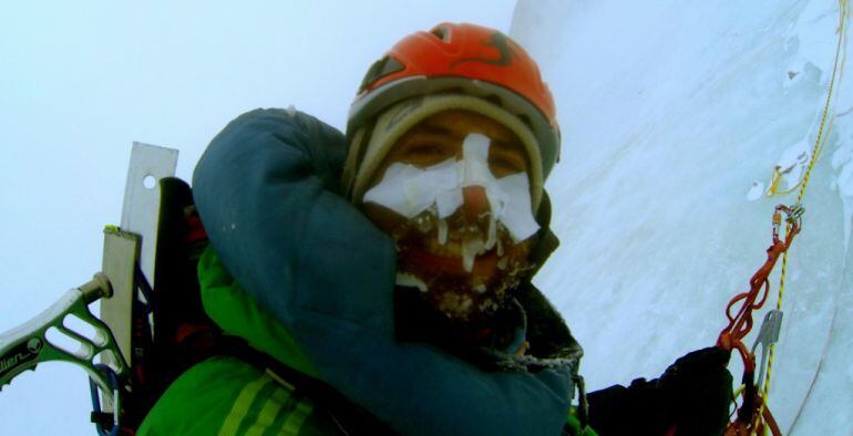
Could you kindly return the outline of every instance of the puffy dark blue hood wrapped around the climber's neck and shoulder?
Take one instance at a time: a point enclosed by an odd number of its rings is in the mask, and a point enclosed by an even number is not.
[[[339,195],[343,136],[278,110],[232,122],[194,197],[214,250],[294,335],[321,378],[413,435],[558,435],[569,368],[485,373],[393,336],[391,239]]]

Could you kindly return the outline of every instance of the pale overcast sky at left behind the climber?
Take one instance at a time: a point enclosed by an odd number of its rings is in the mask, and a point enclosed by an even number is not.
[[[239,4],[239,7],[237,7]],[[131,143],[209,139],[255,107],[342,128],[363,73],[441,21],[510,30],[514,0],[0,3],[0,332],[100,270]],[[0,434],[91,434],[84,373],[49,364],[0,393]]]

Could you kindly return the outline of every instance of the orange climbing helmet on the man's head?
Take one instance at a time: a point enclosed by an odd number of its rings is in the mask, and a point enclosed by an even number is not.
[[[539,69],[515,41],[474,24],[442,23],[410,34],[373,63],[350,107],[348,135],[352,138],[398,102],[435,93],[481,97],[516,115],[538,143],[543,178],[551,173],[559,155],[559,128]]]

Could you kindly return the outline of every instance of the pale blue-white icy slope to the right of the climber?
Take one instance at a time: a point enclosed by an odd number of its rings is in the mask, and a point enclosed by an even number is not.
[[[795,201],[762,188],[811,150],[837,23],[832,0],[518,2],[511,34],[539,60],[564,138],[547,184],[563,246],[538,284],[586,350],[589,390],[715,343],[764,261],[773,207]],[[770,393],[785,433],[853,426],[851,86],[837,83],[788,261]]]

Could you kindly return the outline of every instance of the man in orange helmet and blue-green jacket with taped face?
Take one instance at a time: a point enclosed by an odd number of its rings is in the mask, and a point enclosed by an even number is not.
[[[590,394],[587,416],[582,350],[531,284],[556,248],[558,148],[536,64],[471,24],[378,61],[346,138],[294,110],[232,122],[193,180],[226,345],[140,434],[721,432],[731,377],[713,349]]]

